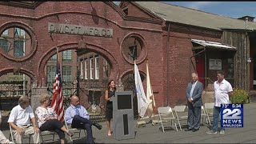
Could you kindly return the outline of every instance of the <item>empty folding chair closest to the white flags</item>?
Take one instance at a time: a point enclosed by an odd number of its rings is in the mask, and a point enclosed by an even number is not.
[[[176,118],[174,117],[174,113],[171,110],[170,106],[158,107],[158,115],[159,115],[159,125],[161,124],[163,133],[165,132],[164,128],[167,127],[167,126],[163,126],[163,124],[162,124],[163,122],[170,122],[171,123],[170,126],[173,126],[172,123],[174,121],[174,126],[176,128],[176,131],[178,131],[177,124],[175,121]],[[170,126],[168,126],[168,127],[170,127]],[[159,128],[160,128],[160,126],[159,126]]]

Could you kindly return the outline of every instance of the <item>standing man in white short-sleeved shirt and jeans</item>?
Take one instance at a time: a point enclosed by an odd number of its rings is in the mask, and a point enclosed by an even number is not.
[[[212,130],[206,134],[217,134],[218,130],[218,117],[221,112],[221,104],[229,104],[230,98],[233,94],[232,86],[230,82],[224,79],[224,71],[217,72],[218,81],[214,82],[214,119]],[[225,134],[224,128],[221,128],[219,134]]]

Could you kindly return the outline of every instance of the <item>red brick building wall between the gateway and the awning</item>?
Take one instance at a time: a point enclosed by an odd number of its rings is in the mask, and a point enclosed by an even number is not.
[[[220,34],[214,31],[202,31],[202,29],[196,29],[194,33],[180,31],[175,29],[175,26],[170,26],[170,49],[169,49],[169,93],[167,93],[167,69],[166,69],[166,58],[164,58],[163,64],[163,98],[167,95],[169,97],[168,105],[175,106],[180,104],[186,104],[186,86],[187,83],[190,82],[190,71],[193,72],[194,69],[190,70],[190,57],[193,55],[192,53],[192,42],[191,38],[201,39],[206,41],[219,42]],[[174,27],[174,28],[172,28]],[[186,29],[193,29],[190,27],[186,27]],[[198,32],[197,32],[198,31]],[[201,31],[201,32],[200,32]],[[212,33],[218,34],[218,36],[209,36],[210,34],[204,33]],[[200,34],[201,33],[201,34]],[[164,33],[163,38],[163,57],[166,57],[166,39],[167,38],[167,30]],[[194,60],[194,58],[193,58]],[[191,66],[192,67],[192,66]],[[193,68],[193,67],[192,67]],[[165,102],[163,102],[165,104]]]

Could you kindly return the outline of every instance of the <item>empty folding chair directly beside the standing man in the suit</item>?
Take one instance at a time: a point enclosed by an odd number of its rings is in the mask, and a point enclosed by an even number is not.
[[[187,125],[187,106],[174,106],[174,111],[178,121],[179,129],[182,130],[181,121],[186,120]]]

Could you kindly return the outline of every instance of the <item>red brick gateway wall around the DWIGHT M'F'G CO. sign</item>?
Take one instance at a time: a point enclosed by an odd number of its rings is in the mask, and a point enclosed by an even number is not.
[[[92,17],[92,6],[98,17]],[[59,46],[59,52],[63,50],[77,49],[78,42],[82,39],[87,43],[88,50],[96,50],[105,58],[112,60],[112,68],[116,71],[110,78],[117,80],[127,70],[134,70],[134,65],[125,61],[121,54],[122,40],[127,34],[140,34],[146,42],[147,58],[150,64],[151,83],[157,101],[162,96],[162,33],[161,25],[149,22],[125,21],[122,16],[110,5],[104,2],[43,2],[35,10],[2,6],[0,17],[1,26],[7,22],[21,22],[30,27],[37,40],[36,52],[22,62],[15,62],[0,56],[2,65],[0,73],[4,69],[13,69],[20,66],[21,69],[34,75],[34,83],[38,86],[46,86],[46,74],[44,66],[51,56],[56,53],[55,46]],[[58,15],[57,15],[58,14]],[[112,28],[113,38],[100,38],[81,36],[74,34],[48,33],[48,22],[66,23],[82,26],[95,26]],[[1,27],[0,27],[1,30]],[[138,63],[138,69],[146,74],[146,58]],[[111,70],[111,71],[114,71]],[[1,73],[2,75],[2,73]],[[146,90],[146,81],[144,82]],[[157,102],[158,106],[159,103]]]

